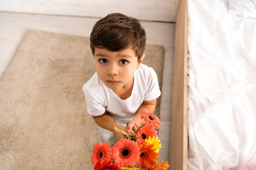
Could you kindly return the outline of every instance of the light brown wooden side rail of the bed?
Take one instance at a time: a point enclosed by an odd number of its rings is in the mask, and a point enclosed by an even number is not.
[[[170,170],[188,169],[188,11],[180,0],[175,23],[172,75]]]

